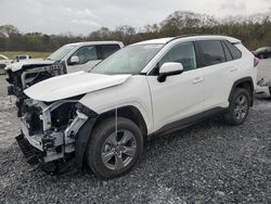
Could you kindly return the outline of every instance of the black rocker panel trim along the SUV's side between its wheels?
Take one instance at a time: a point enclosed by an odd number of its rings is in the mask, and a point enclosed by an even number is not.
[[[203,113],[190,116],[190,117],[185,117],[183,119],[180,119],[178,122],[173,122],[171,124],[167,124],[164,127],[162,127],[160,129],[158,129],[157,131],[155,131],[154,136],[163,136],[163,135],[167,135],[173,131],[177,131],[179,129],[183,129],[188,126],[194,125],[198,122],[202,122],[203,119],[205,119],[206,117],[209,117],[211,115],[218,114],[218,113],[222,113],[223,111],[225,111],[227,109],[224,107],[214,107],[211,110],[205,111]]]

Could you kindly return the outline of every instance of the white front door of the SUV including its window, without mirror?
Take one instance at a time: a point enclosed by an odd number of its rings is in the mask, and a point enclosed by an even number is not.
[[[204,75],[197,68],[193,42],[182,42],[170,49],[158,62],[182,63],[183,73],[159,82],[157,76],[147,76],[154,116],[154,130],[182,118],[198,114],[204,107]]]

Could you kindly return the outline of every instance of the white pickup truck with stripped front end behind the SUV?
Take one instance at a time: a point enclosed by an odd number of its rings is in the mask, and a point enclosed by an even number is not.
[[[102,60],[124,47],[119,41],[77,42],[63,46],[47,59],[31,59],[13,63],[7,67],[10,86],[8,93],[17,100],[18,116],[26,98],[23,90],[53,76],[90,71]]]

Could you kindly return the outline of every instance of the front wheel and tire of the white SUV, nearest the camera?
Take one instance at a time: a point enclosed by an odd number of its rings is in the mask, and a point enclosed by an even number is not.
[[[93,129],[86,151],[90,169],[104,179],[122,176],[131,170],[143,152],[143,137],[130,119],[108,118]],[[129,151],[129,153],[128,153]]]

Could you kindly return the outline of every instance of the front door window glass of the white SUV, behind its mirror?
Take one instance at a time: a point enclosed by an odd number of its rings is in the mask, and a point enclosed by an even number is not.
[[[182,63],[183,71],[191,71],[196,68],[196,54],[193,42],[183,42],[175,46],[171,50],[166,53],[165,56],[159,61],[158,67],[166,62]]]

